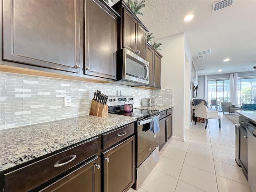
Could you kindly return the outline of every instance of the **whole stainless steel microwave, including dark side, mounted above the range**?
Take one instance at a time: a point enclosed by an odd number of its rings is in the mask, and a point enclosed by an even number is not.
[[[148,84],[149,62],[124,48],[118,52],[117,78],[119,82]]]

